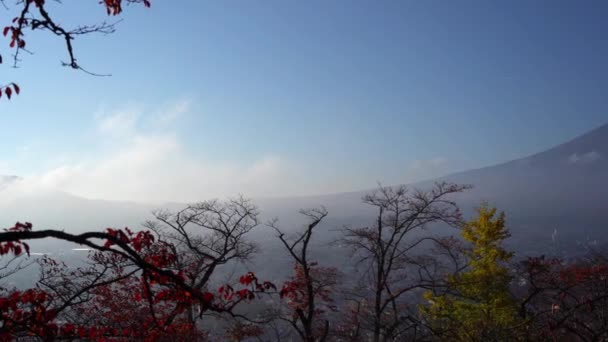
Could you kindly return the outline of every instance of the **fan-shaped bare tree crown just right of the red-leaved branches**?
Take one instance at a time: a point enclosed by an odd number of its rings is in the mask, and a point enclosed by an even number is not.
[[[177,256],[175,271],[183,272],[195,290],[205,289],[221,265],[247,261],[256,252],[246,235],[258,226],[258,208],[248,199],[210,200],[177,212],[157,210],[144,226],[167,242]],[[194,322],[196,313],[189,310]]]

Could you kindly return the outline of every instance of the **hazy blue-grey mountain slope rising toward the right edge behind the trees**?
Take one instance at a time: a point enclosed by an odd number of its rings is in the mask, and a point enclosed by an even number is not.
[[[527,157],[408,186],[428,188],[442,181],[474,186],[456,196],[466,217],[482,201],[504,210],[513,248],[520,251],[533,254],[550,250],[555,230],[558,239],[566,242],[562,246],[574,249],[587,240],[608,242],[608,124]],[[265,199],[260,203],[263,209],[276,213],[324,204],[337,221],[364,222],[364,217],[373,214],[361,204],[367,192]]]

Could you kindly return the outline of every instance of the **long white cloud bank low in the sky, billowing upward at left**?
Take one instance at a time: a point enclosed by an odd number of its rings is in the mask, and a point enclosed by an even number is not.
[[[190,202],[237,194],[318,195],[373,188],[376,181],[389,185],[429,179],[444,175],[451,166],[445,158],[415,160],[402,172],[382,179],[381,174],[361,175],[356,168],[340,169],[322,157],[314,162],[272,154],[250,162],[230,156],[211,160],[186,152],[174,128],[189,107],[188,101],[181,101],[152,112],[141,106],[99,110],[93,117],[94,146],[24,177],[1,196],[10,199],[16,194],[61,190],[93,199]]]

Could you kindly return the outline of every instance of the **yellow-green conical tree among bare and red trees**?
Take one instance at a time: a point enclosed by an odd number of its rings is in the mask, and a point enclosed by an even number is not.
[[[429,301],[421,311],[442,339],[451,341],[513,340],[517,307],[509,294],[507,268],[513,254],[502,247],[509,231],[505,214],[482,205],[477,217],[462,228],[470,243],[468,268],[447,279],[449,294],[425,293]]]

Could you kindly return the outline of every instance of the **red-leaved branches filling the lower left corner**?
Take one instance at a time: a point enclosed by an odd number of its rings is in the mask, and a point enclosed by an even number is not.
[[[30,223],[17,223],[5,231],[36,233]],[[101,236],[106,241],[92,245],[98,251],[89,255],[87,268],[73,270],[43,258],[40,289],[7,291],[0,296],[0,340],[29,335],[45,340],[157,341],[173,336],[201,340],[206,335],[196,328],[192,312],[230,312],[242,301],[276,290],[251,272],[240,277],[243,288],[226,284],[217,295],[196,290],[184,276],[190,270],[177,270],[174,246],[157,240],[151,232],[108,228],[105,234],[94,235]],[[19,255],[22,246],[29,251],[17,239],[0,246],[5,254]],[[238,334],[253,336],[255,329],[241,328]]]

